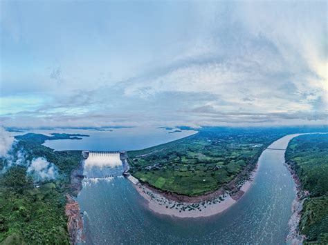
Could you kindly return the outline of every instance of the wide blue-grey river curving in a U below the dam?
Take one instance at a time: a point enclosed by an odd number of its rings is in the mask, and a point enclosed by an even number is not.
[[[287,135],[268,148],[285,149]],[[87,244],[284,244],[295,184],[284,150],[259,157],[253,186],[224,213],[197,219],[157,215],[123,177],[85,182],[78,196]]]

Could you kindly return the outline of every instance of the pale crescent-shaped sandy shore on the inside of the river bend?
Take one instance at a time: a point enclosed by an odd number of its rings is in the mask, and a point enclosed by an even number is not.
[[[235,203],[253,186],[255,176],[258,172],[259,161],[255,168],[249,173],[246,181],[237,184],[240,179],[236,177],[228,186],[235,189],[235,193],[228,192],[223,187],[212,193],[200,195],[197,197],[188,197],[183,195],[165,193],[152,186],[139,182],[132,175],[127,179],[132,182],[134,188],[147,201],[147,207],[159,215],[169,215],[179,218],[197,218],[210,217],[224,212]]]

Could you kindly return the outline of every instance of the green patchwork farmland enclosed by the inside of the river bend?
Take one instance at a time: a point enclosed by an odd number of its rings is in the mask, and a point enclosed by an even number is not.
[[[180,195],[197,196],[242,182],[262,150],[284,133],[270,129],[203,128],[183,139],[129,151],[131,174],[141,182]]]

